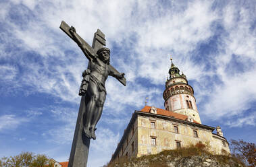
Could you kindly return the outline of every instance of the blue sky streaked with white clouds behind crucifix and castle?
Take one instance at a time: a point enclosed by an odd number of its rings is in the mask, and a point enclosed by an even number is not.
[[[225,137],[256,143],[255,1],[0,2],[0,157],[70,155],[88,61],[60,29],[61,20],[89,44],[99,28],[111,64],[127,86],[109,77],[107,100],[91,141],[88,166],[111,158],[134,110],[163,108],[174,64],[195,90],[201,121]]]

